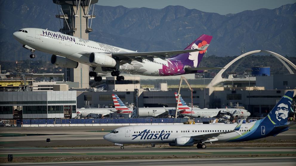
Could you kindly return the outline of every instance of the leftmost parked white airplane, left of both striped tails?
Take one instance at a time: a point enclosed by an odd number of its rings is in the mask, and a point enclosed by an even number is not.
[[[115,111],[114,108],[77,108],[76,113],[81,114],[82,117],[86,117],[88,114],[101,114],[106,116]]]

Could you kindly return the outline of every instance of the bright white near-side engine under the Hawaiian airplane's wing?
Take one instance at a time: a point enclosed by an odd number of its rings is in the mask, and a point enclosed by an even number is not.
[[[105,53],[97,53],[97,52],[92,52],[90,54],[90,63],[99,65],[99,66],[104,66],[104,67],[115,67],[116,66],[116,60],[113,59],[109,54]]]

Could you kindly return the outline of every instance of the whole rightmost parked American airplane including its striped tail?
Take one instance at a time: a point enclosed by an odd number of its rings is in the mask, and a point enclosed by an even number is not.
[[[178,98],[178,94],[175,93],[176,98]],[[178,99],[177,99],[178,100]],[[229,112],[234,117],[249,117],[251,113],[246,109],[237,109],[237,108],[217,108],[217,109],[188,109],[186,102],[180,95],[180,102],[178,112],[183,116],[189,116],[193,118],[212,118],[218,115],[219,111]],[[185,108],[185,109],[184,109]]]

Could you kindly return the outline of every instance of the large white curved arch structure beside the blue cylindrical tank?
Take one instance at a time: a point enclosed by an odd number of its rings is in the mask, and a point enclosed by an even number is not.
[[[275,52],[272,51],[266,51],[266,50],[254,50],[254,51],[250,51],[247,53],[244,53],[238,57],[236,57],[235,59],[233,59],[231,62],[229,62],[226,66],[224,66],[224,69],[220,70],[219,73],[214,77],[214,79],[208,84],[207,88],[211,88],[214,87],[215,85],[219,84],[220,82],[225,81],[225,79],[222,78],[222,74],[226,71],[226,69],[228,69],[234,62],[238,61],[239,59],[255,54],[255,53],[259,53],[259,52],[266,52],[268,54],[271,54],[272,56],[276,57],[290,72],[290,74],[294,74],[294,72],[291,70],[291,68],[284,62],[286,61],[287,63],[289,63],[295,70],[296,70],[296,65],[294,63],[292,63],[291,61],[289,61],[288,59],[286,59],[285,57],[281,56],[280,54],[277,54]],[[243,60],[243,59],[242,59]],[[242,61],[241,60],[241,61]],[[238,65],[241,63],[241,61],[235,66],[235,68],[232,70],[234,71]],[[213,90],[210,90],[210,93],[212,93]]]

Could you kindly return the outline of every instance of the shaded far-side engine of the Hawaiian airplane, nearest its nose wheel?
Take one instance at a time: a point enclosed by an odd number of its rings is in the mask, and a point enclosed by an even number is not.
[[[50,62],[55,65],[59,66],[62,68],[77,68],[78,67],[78,62],[75,62],[71,59],[61,57],[58,55],[52,55],[50,58]]]

